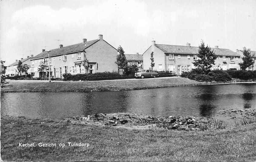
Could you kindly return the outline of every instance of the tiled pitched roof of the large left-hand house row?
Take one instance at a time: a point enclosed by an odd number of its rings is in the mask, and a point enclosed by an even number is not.
[[[71,52],[85,50],[86,48],[90,47],[92,44],[95,44],[98,41],[99,41],[99,39],[95,39],[95,40],[87,41],[85,43],[78,43],[78,44],[65,46],[62,48],[56,48],[56,49],[50,50],[51,52],[49,52],[49,55],[54,56],[54,55],[59,55],[59,54],[64,54],[64,53],[71,53]],[[38,58],[44,58],[44,57],[48,57],[47,51],[39,53],[38,55],[33,57],[31,60],[38,59]]]

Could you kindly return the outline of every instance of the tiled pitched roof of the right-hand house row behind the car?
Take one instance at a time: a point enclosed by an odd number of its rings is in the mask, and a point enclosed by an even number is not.
[[[178,45],[165,45],[165,44],[155,44],[160,50],[165,53],[185,53],[185,54],[198,54],[199,47],[188,47],[188,46],[178,46]],[[239,54],[223,48],[211,48],[214,50],[215,55],[224,56],[240,56]]]

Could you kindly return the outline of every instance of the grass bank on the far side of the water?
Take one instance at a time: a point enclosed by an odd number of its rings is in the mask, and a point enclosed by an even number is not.
[[[202,85],[205,83],[181,77],[154,79],[124,79],[102,81],[51,82],[34,80],[9,81],[1,92],[84,92],[123,91],[136,89],[167,88],[174,86]],[[10,86],[12,85],[12,86]]]

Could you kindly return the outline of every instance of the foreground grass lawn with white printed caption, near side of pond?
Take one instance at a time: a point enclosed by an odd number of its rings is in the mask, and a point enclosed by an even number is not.
[[[1,117],[1,157],[10,161],[252,161],[256,124],[215,131],[128,130]],[[36,147],[19,147],[19,143]],[[39,147],[38,143],[65,147]],[[68,142],[88,143],[71,147]]]

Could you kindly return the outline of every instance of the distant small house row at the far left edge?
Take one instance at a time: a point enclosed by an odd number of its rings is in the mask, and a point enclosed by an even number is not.
[[[8,75],[8,76],[18,75],[18,70],[17,70],[18,62],[21,61],[22,64],[30,65],[30,61],[29,60],[31,58],[33,58],[33,55],[27,56],[27,58],[25,58],[25,59],[21,58],[20,60],[15,60],[14,63],[12,63],[11,65],[6,67],[5,76],[6,75]],[[21,73],[21,75],[25,75],[25,72]]]

